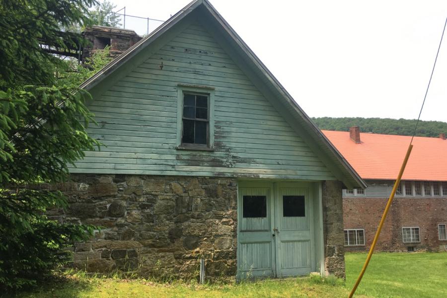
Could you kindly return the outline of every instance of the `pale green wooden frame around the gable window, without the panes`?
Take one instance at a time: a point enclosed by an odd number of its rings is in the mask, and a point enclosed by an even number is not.
[[[183,136],[183,98],[185,93],[208,96],[208,129],[207,144],[182,143]],[[177,147],[181,150],[214,150],[214,97],[215,89],[210,86],[177,85]]]

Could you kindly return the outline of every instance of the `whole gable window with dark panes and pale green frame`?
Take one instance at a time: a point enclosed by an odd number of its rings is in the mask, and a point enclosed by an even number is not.
[[[213,89],[179,86],[177,149],[213,149],[213,97]]]

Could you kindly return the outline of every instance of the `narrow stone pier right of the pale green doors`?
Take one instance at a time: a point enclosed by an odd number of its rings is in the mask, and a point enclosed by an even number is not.
[[[342,183],[324,181],[322,201],[326,274],[345,278]]]

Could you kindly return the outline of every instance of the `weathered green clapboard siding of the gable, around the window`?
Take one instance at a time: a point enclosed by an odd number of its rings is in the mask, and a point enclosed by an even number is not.
[[[176,149],[178,84],[215,88],[214,151]],[[88,132],[107,147],[85,152],[73,173],[335,179],[198,23],[88,106],[99,124]]]

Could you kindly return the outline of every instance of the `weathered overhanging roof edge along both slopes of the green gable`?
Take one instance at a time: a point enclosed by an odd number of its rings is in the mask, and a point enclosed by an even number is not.
[[[262,64],[256,55],[248,48],[242,39],[228,25],[219,12],[208,0],[195,0],[170,17],[147,37],[136,43],[117,59],[106,65],[98,73],[91,76],[80,87],[86,90],[92,89],[110,74],[114,73],[120,66],[136,56],[143,49],[152,44],[158,37],[167,32],[175,24],[194,11],[201,13],[206,18],[207,27],[214,28],[219,35],[229,44],[228,49],[234,50],[233,55],[239,57],[239,63],[245,65],[245,71],[250,77],[256,76],[261,82],[257,85],[261,92],[269,92],[272,96],[266,96],[271,103],[283,114],[288,114],[291,126],[315,151],[322,162],[333,172],[337,179],[341,180],[347,187],[366,187],[367,184],[356,173],[346,159],[332,146],[327,138],[315,126],[310,118],[298,106],[292,96],[284,89],[279,81]]]

